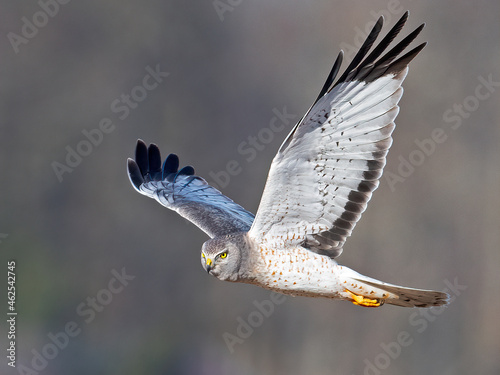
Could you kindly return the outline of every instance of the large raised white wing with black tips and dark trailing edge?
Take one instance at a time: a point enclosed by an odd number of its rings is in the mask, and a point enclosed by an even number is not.
[[[316,102],[276,154],[249,235],[272,247],[303,246],[330,257],[342,252],[386,162],[408,63],[426,43],[398,58],[418,27],[380,57],[408,13],[368,54],[381,17],[335,82],[340,52]]]

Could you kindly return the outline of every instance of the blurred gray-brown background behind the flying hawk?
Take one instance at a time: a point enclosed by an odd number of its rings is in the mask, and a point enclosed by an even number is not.
[[[0,6],[2,374],[500,373],[498,1],[59,1]],[[209,277],[205,234],[132,189],[137,138],[255,212],[339,50],[349,60],[379,15],[385,34],[407,9],[402,34],[426,22],[413,45],[429,44],[338,260],[452,303],[275,303]],[[284,110],[294,121],[262,131]]]

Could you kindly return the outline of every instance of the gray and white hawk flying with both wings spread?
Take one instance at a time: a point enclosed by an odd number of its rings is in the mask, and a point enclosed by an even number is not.
[[[385,52],[407,19],[405,12],[372,49],[383,27],[380,17],[336,80],[340,51],[318,97],[274,157],[255,215],[192,166],[179,169],[177,155],[162,163],[156,144],[137,141],[135,160],[127,160],[132,186],[210,237],[200,255],[206,272],[223,281],[363,307],[449,302],[444,292],[382,282],[336,261],[379,185],[408,65],[426,45],[405,52],[422,24]]]

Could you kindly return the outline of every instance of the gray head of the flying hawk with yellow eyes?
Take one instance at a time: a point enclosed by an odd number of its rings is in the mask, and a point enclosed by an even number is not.
[[[240,250],[229,236],[208,240],[201,248],[201,265],[219,280],[236,281],[240,263]]]

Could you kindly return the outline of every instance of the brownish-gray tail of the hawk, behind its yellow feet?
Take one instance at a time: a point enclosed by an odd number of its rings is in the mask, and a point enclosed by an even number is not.
[[[375,288],[375,293],[376,293],[375,295],[382,292],[382,295],[385,294],[387,296],[388,293],[388,296],[384,298],[384,302],[396,306],[402,306],[402,307],[442,306],[448,304],[450,298],[448,294],[434,290],[406,288],[398,285],[387,284],[372,278],[370,278],[369,280],[361,278],[352,278],[352,279],[360,284],[365,284],[366,289],[371,288],[373,290]],[[373,298],[373,296],[374,296],[373,294],[367,295],[367,297],[371,298]]]

